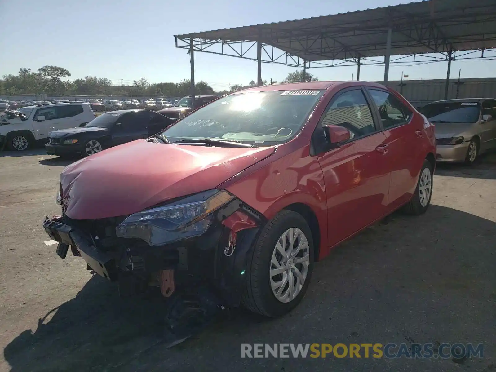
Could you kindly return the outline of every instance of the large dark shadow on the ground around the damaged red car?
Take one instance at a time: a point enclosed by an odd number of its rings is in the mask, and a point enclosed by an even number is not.
[[[114,285],[93,276],[73,299],[37,314],[37,328],[13,339],[4,358],[12,372],[227,371],[240,363],[245,371],[328,371],[325,360],[242,360],[240,345],[406,339],[490,347],[495,240],[495,222],[459,210],[432,205],[421,217],[394,213],[318,262],[306,298],[290,314],[266,319],[237,309],[173,348],[163,343],[163,299],[121,299]],[[383,359],[339,362],[333,371],[392,371]],[[443,370],[415,363],[394,360],[393,370]]]

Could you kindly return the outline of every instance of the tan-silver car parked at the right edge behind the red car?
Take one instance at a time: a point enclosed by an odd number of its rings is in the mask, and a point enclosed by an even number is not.
[[[472,164],[496,149],[496,99],[436,101],[421,111],[435,126],[437,161]]]

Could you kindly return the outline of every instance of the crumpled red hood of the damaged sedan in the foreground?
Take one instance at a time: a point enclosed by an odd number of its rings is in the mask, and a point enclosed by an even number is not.
[[[172,198],[213,189],[273,152],[274,147],[129,142],[63,170],[65,214],[76,220],[129,215]]]

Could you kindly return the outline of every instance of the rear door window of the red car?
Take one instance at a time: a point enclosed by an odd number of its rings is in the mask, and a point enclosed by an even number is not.
[[[377,89],[368,89],[368,91],[379,110],[384,128],[405,124],[410,120],[412,112],[394,94]]]

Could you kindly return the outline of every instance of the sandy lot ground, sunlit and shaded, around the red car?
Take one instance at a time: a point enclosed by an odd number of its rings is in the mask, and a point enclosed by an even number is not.
[[[266,320],[234,311],[167,349],[152,300],[121,300],[41,228],[64,162],[0,153],[1,371],[496,371],[496,162],[442,166],[422,217],[395,213],[316,265],[307,297]],[[484,358],[241,359],[241,343],[484,343]]]

